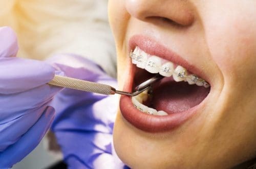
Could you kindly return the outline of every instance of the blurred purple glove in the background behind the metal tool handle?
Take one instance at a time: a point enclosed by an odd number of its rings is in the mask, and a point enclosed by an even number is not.
[[[61,64],[76,64],[77,68],[55,64],[67,76],[116,86],[116,80],[93,62],[74,55],[59,57]],[[55,60],[60,61],[58,57]],[[69,168],[124,167],[112,148],[117,97],[67,88],[55,96],[52,105],[56,107],[56,117],[51,129]]]

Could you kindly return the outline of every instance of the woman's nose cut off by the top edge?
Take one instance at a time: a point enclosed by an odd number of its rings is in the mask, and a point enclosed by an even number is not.
[[[185,0],[126,0],[125,7],[142,21],[161,19],[179,26],[194,22],[193,6]]]

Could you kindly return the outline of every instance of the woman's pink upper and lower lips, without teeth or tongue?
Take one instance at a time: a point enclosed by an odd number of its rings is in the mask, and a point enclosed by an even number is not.
[[[133,36],[129,41],[129,51],[135,49],[138,46],[141,50],[148,54],[162,57],[166,60],[170,60],[176,64],[185,67],[196,75],[204,78],[200,70],[195,66],[188,64],[183,58],[166,49],[163,45],[157,43],[151,38],[136,35]],[[129,52],[128,52],[129,53]],[[134,80],[134,70],[132,63],[130,62],[131,74],[127,78],[127,83],[124,86],[124,91],[132,91],[132,84]],[[206,78],[206,77],[205,77]],[[206,79],[207,80],[207,79]],[[146,132],[163,132],[177,128],[181,124],[185,123],[187,119],[191,118],[196,112],[200,111],[205,103],[205,100],[199,105],[180,113],[169,114],[165,116],[157,116],[145,114],[136,109],[132,104],[130,96],[122,95],[120,98],[120,110],[123,117],[136,128]]]

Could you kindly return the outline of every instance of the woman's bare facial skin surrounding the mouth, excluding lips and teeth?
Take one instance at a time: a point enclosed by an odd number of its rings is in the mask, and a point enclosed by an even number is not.
[[[121,89],[129,39],[154,38],[209,77],[201,111],[178,128],[143,132],[122,117],[114,147],[132,168],[231,168],[256,157],[256,1],[111,0]],[[167,18],[167,19],[163,19]]]

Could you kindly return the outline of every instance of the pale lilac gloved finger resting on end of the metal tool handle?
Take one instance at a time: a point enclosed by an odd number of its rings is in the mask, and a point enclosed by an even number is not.
[[[17,93],[50,82],[55,69],[42,61],[0,58],[0,93]]]

